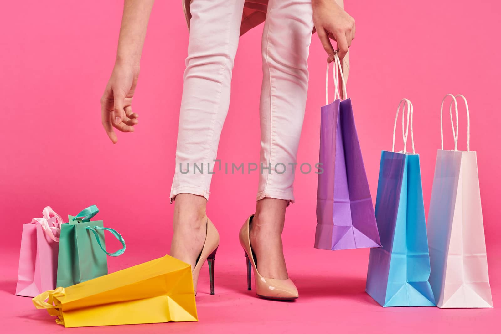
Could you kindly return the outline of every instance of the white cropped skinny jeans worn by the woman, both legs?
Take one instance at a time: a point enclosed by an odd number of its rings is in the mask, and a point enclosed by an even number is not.
[[[218,170],[214,160],[229,107],[243,3],[191,2],[171,198],[180,193],[209,197],[209,172]],[[271,197],[294,201],[294,176],[299,171],[294,167],[306,107],[312,17],[311,0],[269,1],[262,38],[260,101],[260,164],[264,168],[258,166],[256,170],[260,175],[257,200]]]

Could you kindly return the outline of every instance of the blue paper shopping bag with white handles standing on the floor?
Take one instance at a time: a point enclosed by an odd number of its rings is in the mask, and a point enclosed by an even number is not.
[[[394,152],[400,105],[404,150]],[[404,111],[407,128],[404,133]],[[410,113],[410,118],[409,118]],[[413,153],[406,152],[411,128]],[[376,197],[381,248],[371,248],[365,291],[382,306],[434,306],[428,278],[430,258],[426,236],[419,155],[414,151],[412,104],[402,99],[397,109],[392,151],[382,151]]]

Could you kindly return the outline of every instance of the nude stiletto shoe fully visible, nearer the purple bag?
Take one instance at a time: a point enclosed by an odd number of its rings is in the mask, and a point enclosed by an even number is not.
[[[254,256],[252,247],[250,247],[249,226],[254,215],[248,217],[240,229],[239,239],[240,244],[245,251],[245,259],[247,263],[247,290],[252,290],[250,282],[250,271],[254,269],[254,280],[256,282],[256,294],[267,299],[290,300],[299,297],[298,289],[291,278],[276,279],[266,278],[259,274],[257,267],[257,259]]]

